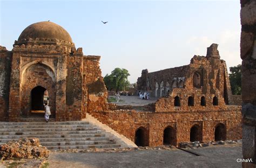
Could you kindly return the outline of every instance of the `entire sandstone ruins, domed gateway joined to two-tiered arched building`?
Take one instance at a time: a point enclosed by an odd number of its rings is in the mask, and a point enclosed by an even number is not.
[[[89,113],[138,146],[240,139],[241,106],[232,105],[217,46],[212,44],[206,57],[194,56],[187,66],[144,70],[139,89],[160,97],[151,110],[111,110],[100,57],[76,50],[69,33],[55,23],[32,24],[12,51],[0,48],[0,120],[33,116],[42,110],[47,90],[55,121],[79,121]]]

